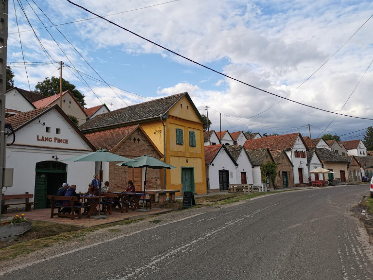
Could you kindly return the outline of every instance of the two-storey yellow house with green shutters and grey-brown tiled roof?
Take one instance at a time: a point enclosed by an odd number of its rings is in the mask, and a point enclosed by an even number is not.
[[[86,134],[138,123],[176,167],[164,170],[162,189],[206,193],[203,119],[187,92],[104,113],[79,128]]]

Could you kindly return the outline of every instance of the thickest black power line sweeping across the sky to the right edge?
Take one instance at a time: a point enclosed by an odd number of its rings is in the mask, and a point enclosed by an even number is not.
[[[294,101],[294,100],[288,99],[288,98],[286,98],[286,97],[282,97],[282,96],[280,96],[280,95],[277,95],[277,94],[271,93],[271,92],[269,92],[269,91],[267,91],[267,90],[264,90],[264,89],[261,89],[261,88],[257,88],[257,87],[255,87],[255,86],[253,86],[253,85],[250,85],[250,84],[248,84],[248,83],[242,82],[242,81],[240,81],[240,80],[238,80],[238,79],[236,79],[236,78],[233,78],[233,77],[228,76],[228,75],[226,75],[226,74],[223,74],[223,73],[221,73],[221,72],[219,72],[219,71],[217,71],[217,70],[214,70],[214,69],[212,69],[212,68],[210,68],[210,67],[207,67],[207,66],[205,66],[205,65],[203,65],[203,64],[201,64],[201,63],[198,63],[198,62],[196,62],[196,61],[194,61],[194,60],[192,60],[192,59],[190,59],[190,58],[187,58],[186,56],[183,56],[183,55],[181,55],[181,54],[179,54],[179,53],[176,53],[176,52],[174,52],[174,51],[171,51],[170,49],[168,49],[168,48],[166,48],[166,47],[163,47],[163,46],[161,46],[161,45],[159,45],[159,44],[157,44],[157,43],[155,43],[155,42],[153,42],[153,41],[151,41],[151,40],[149,40],[149,39],[147,39],[147,38],[145,38],[145,37],[143,37],[143,36],[141,36],[141,35],[138,35],[138,34],[136,34],[135,32],[130,31],[129,29],[124,28],[124,27],[120,26],[119,24],[117,24],[117,23],[115,23],[115,22],[113,22],[113,21],[110,21],[110,20],[108,20],[108,19],[106,19],[106,18],[103,18],[102,16],[99,16],[98,14],[95,14],[95,13],[89,11],[88,9],[86,9],[85,7],[83,7],[83,6],[81,6],[81,5],[78,5],[78,4],[76,4],[76,3],[74,3],[74,2],[72,2],[72,1],[70,1],[70,0],[67,0],[67,1],[68,1],[69,3],[71,3],[71,4],[73,4],[73,5],[75,5],[75,6],[79,7],[79,8],[81,8],[82,10],[85,10],[86,12],[88,12],[88,13],[90,13],[90,14],[92,14],[92,15],[95,15],[95,16],[97,16],[97,17],[99,17],[99,18],[102,18],[103,20],[106,20],[107,22],[109,22],[109,23],[111,23],[111,24],[113,24],[113,25],[119,27],[120,29],[123,29],[123,30],[125,30],[125,31],[127,31],[127,32],[129,32],[129,33],[131,33],[131,34],[133,34],[133,35],[135,35],[135,36],[137,36],[137,37],[143,39],[143,40],[148,41],[149,43],[152,43],[153,45],[155,45],[155,46],[157,46],[157,47],[159,47],[159,48],[162,48],[162,49],[164,49],[164,50],[166,50],[166,51],[168,51],[168,52],[170,52],[170,53],[173,53],[173,54],[175,54],[175,55],[177,55],[177,56],[179,56],[179,57],[182,57],[182,58],[184,58],[184,59],[186,59],[186,60],[188,60],[188,61],[190,61],[190,62],[192,62],[192,63],[194,63],[194,64],[197,64],[197,65],[199,65],[199,66],[201,66],[201,67],[203,67],[203,68],[205,68],[205,69],[211,70],[211,71],[213,71],[213,72],[215,72],[215,73],[218,73],[218,74],[220,74],[220,75],[222,75],[222,76],[224,76],[224,77],[227,77],[227,78],[229,78],[229,79],[232,79],[232,80],[234,80],[234,81],[237,81],[238,83],[244,84],[244,85],[249,86],[249,87],[251,87],[251,88],[255,88],[255,89],[257,89],[257,90],[263,91],[263,92],[268,93],[268,94],[271,94],[271,95],[273,95],[273,96],[277,96],[277,97],[279,97],[279,98],[282,98],[282,99],[288,100],[288,101],[290,101],[290,102],[293,102],[293,103],[296,103],[296,104],[299,104],[299,105],[303,105],[303,106],[306,106],[306,107],[309,107],[309,108],[317,109],[317,110],[320,110],[320,111],[323,111],[323,112],[327,112],[327,113],[331,113],[331,114],[336,114],[336,115],[341,115],[341,116],[350,117],[350,118],[356,118],[356,119],[373,120],[373,119],[370,119],[370,118],[361,118],[361,117],[350,116],[350,115],[345,115],[345,114],[340,114],[340,113],[336,113],[336,112],[332,112],[332,111],[324,110],[324,109],[321,109],[321,108],[317,108],[317,107],[315,107],[315,106],[306,105],[306,104],[303,104],[303,103],[300,103],[300,102],[297,102],[297,101]]]

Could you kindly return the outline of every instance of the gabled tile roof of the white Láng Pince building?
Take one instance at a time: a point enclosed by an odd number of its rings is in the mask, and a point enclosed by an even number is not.
[[[70,120],[68,115],[66,115],[66,113],[58,105],[47,106],[44,108],[24,112],[13,117],[6,118],[5,122],[12,124],[13,130],[16,132],[17,130],[21,129],[29,123],[34,122],[34,120],[38,119],[39,117],[54,109],[57,110],[61,114],[61,116],[73,127],[76,133],[88,144],[88,146],[92,150],[95,150],[95,147],[92,145],[92,143],[85,137],[85,135],[79,130],[75,123],[73,123]]]

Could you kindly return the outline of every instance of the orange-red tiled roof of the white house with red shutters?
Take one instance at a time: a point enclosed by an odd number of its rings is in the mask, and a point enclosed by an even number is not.
[[[292,149],[299,133],[285,134],[272,137],[263,137],[253,140],[246,140],[244,147],[246,150],[269,148],[272,150]],[[300,136],[301,137],[301,136]],[[302,138],[301,138],[302,139]]]

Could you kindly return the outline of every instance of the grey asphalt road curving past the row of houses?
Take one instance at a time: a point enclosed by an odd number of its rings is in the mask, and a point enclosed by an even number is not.
[[[372,247],[350,211],[368,193],[367,185],[327,187],[182,211],[0,279],[373,279]]]

